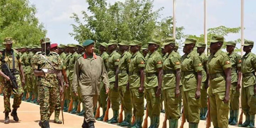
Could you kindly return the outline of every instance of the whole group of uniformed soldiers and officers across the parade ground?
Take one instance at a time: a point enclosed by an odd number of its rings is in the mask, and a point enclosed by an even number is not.
[[[251,52],[254,42],[244,42],[243,57],[234,52],[236,43],[233,41],[226,42],[227,53],[223,52],[224,37],[220,35],[214,35],[209,42],[209,57],[204,54],[206,45],[193,38],[185,40],[183,56],[177,53],[179,47],[175,39],[167,38],[162,41],[152,39],[144,46],[137,40],[119,43],[110,40],[109,43],[100,43],[100,55],[93,53],[90,57],[86,49],[89,50],[88,46],[94,47],[92,40],[85,41],[83,45],[58,46],[50,44],[46,38],[40,41],[41,46],[19,47],[17,51],[10,52],[14,53],[13,65],[12,55],[6,52],[13,42],[6,38],[6,48],[1,49],[1,61],[8,63],[10,69],[15,66],[19,86],[13,91],[14,105],[11,111],[9,99],[12,89],[6,86],[10,84],[10,79],[0,72],[4,123],[10,122],[9,112],[12,112],[15,121],[18,120],[17,108],[24,100],[40,104],[39,125],[42,128],[49,128],[49,117],[54,111],[54,123],[61,124],[59,113],[63,99],[63,111],[85,117],[82,128],[94,128],[95,119],[92,117],[97,115],[99,107],[103,111],[96,118],[99,121],[142,128],[145,105],[150,117],[148,128],[159,127],[160,112],[165,112],[169,128],[178,127],[181,113],[189,128],[197,128],[200,119],[206,119],[207,112],[214,128],[228,128],[228,125],[238,125],[242,88],[241,106],[246,121],[239,126],[254,128],[256,55]],[[97,60],[97,57],[100,60],[96,62],[102,63],[104,68],[90,69],[94,65],[91,61]],[[97,69],[100,74],[97,74]],[[95,80],[94,75],[99,80]],[[78,109],[80,103],[83,106],[81,111]],[[109,106],[113,110],[110,119]],[[125,115],[123,120],[119,120],[120,106]]]

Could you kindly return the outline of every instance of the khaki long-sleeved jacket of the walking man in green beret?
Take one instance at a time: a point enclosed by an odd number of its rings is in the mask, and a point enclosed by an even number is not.
[[[71,88],[73,92],[77,92],[79,87],[82,96],[99,95],[101,82],[105,88],[109,88],[108,79],[103,59],[96,54],[92,58],[84,54],[75,62]]]

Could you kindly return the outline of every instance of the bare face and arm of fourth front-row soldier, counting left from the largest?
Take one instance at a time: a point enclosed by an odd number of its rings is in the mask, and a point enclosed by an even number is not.
[[[150,53],[154,53],[158,49],[158,47],[159,47],[159,45],[149,44],[148,45],[148,51],[150,51]],[[160,97],[160,95],[161,95],[161,87],[162,87],[163,69],[162,68],[158,68],[157,72],[158,72],[158,75],[157,75],[158,86],[157,86],[157,90],[156,90],[156,97]]]

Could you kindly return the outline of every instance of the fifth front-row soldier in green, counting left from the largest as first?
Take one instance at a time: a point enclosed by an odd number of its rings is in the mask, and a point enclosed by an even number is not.
[[[135,122],[130,128],[142,128],[144,115],[144,80],[145,59],[140,53],[142,43],[134,40],[129,44],[132,53],[129,64],[129,88],[131,91],[131,102],[135,115]]]

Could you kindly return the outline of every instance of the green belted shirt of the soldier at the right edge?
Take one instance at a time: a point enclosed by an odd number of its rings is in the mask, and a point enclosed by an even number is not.
[[[248,87],[256,84],[256,78],[255,75],[251,76],[245,76],[250,73],[255,73],[256,69],[256,55],[252,52],[243,55],[242,58],[242,73],[243,73],[243,79],[242,79],[242,86]]]

